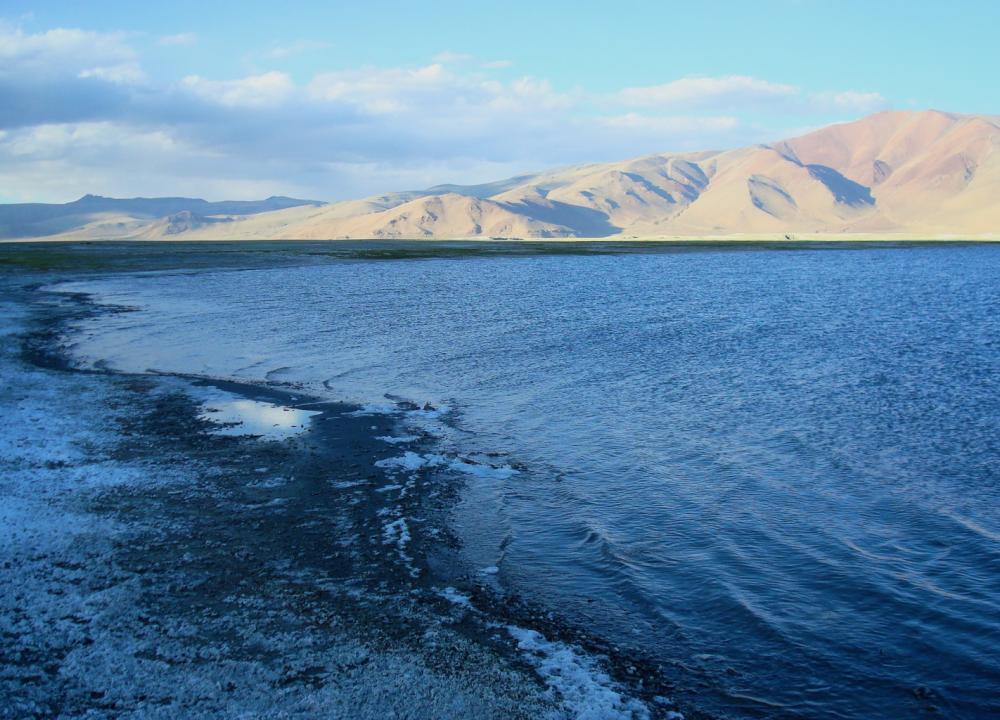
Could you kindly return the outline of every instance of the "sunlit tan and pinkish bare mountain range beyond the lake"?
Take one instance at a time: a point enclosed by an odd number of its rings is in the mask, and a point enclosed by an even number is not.
[[[0,238],[1000,236],[1000,116],[887,111],[661,153],[335,203],[86,196],[0,205]]]

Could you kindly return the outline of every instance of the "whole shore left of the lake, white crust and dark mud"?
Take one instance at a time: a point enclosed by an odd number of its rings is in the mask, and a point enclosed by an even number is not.
[[[62,324],[98,310],[5,295],[0,717],[676,717],[663,668],[463,580],[461,481],[376,464],[431,442],[378,439],[403,409],[76,370]],[[319,414],[219,435],[199,385]]]

